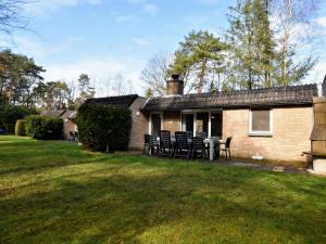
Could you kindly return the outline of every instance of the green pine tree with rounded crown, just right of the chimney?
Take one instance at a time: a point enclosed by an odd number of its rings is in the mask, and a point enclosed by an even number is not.
[[[201,93],[214,80],[218,68],[223,67],[225,49],[225,43],[213,34],[192,30],[179,42],[168,74],[180,74],[185,86],[191,82],[190,89],[195,88]]]

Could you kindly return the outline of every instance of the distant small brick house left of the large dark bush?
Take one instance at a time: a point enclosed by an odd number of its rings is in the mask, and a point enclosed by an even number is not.
[[[70,138],[70,132],[76,132],[77,126],[74,121],[76,118],[77,112],[75,111],[65,111],[65,110],[60,110],[60,111],[43,111],[41,113],[43,116],[49,116],[49,117],[60,117],[63,119],[63,131],[64,131],[64,137],[65,139]]]

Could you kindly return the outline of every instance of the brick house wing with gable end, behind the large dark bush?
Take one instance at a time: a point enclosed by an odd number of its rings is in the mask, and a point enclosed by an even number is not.
[[[143,145],[143,134],[148,132],[148,118],[140,113],[146,99],[137,94],[108,97],[100,99],[89,99],[87,103],[99,103],[115,107],[129,108],[131,112],[131,131],[129,149],[141,149]]]

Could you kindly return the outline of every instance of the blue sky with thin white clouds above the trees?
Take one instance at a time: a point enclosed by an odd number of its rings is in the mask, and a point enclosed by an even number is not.
[[[112,77],[125,78],[125,92],[143,94],[139,80],[148,60],[174,52],[190,30],[221,34],[235,0],[34,0],[25,5],[28,29],[15,31],[8,46],[34,57],[46,80],[90,76],[97,97],[116,91]],[[326,0],[313,23],[318,63],[304,82],[321,82],[326,74]],[[111,81],[110,81],[111,80]]]

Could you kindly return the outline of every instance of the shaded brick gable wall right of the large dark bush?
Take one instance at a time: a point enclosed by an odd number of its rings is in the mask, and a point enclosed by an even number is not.
[[[133,126],[130,130],[129,149],[142,149],[143,134],[148,133],[148,115],[139,112],[145,102],[146,99],[138,98],[130,106]],[[139,112],[139,115],[137,115],[137,112]]]

